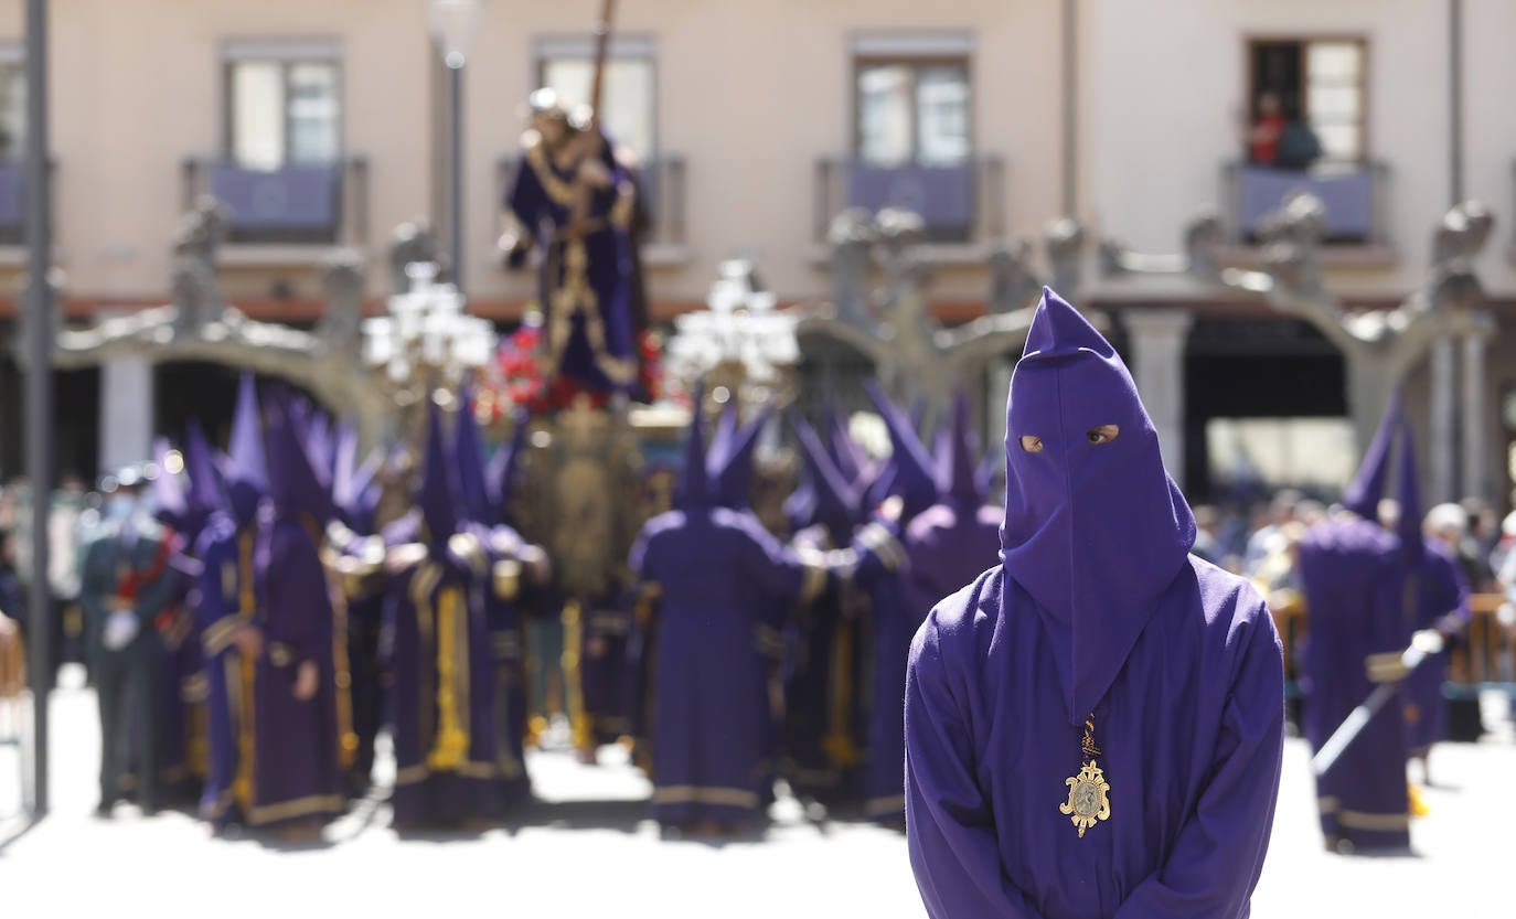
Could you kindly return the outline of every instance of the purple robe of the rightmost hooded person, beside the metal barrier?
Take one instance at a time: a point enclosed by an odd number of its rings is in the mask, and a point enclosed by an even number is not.
[[[1469,585],[1454,555],[1439,541],[1427,540],[1427,554],[1416,570],[1417,604],[1413,629],[1461,629],[1469,620]],[[1442,684],[1448,676],[1448,654],[1422,661],[1405,678],[1405,726],[1410,752],[1425,757],[1431,745],[1448,736],[1448,701]]]

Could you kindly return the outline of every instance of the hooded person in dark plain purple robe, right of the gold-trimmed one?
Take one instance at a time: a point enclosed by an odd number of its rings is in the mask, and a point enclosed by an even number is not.
[[[283,409],[283,411],[279,411]],[[335,617],[320,541],[332,516],[330,485],[287,406],[267,417],[268,502],[259,513],[253,587],[262,655],[255,675],[252,810],[249,823],[330,820],[346,804],[338,760]],[[315,693],[296,693],[314,667]]]

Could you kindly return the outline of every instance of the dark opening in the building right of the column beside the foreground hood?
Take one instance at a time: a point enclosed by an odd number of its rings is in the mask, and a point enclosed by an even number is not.
[[[1310,323],[1198,318],[1184,359],[1184,470],[1192,500],[1219,502],[1207,426],[1213,419],[1346,417],[1342,355]]]

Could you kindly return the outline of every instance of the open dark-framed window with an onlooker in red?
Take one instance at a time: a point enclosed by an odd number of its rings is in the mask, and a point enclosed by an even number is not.
[[[1249,111],[1278,99],[1287,121],[1310,126],[1322,162],[1360,164],[1366,158],[1367,45],[1355,38],[1267,39],[1249,44]]]

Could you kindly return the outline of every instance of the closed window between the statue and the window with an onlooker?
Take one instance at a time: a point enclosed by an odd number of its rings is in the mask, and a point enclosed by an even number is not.
[[[857,153],[870,165],[969,159],[969,61],[855,61]]]

